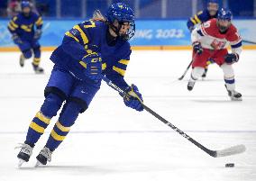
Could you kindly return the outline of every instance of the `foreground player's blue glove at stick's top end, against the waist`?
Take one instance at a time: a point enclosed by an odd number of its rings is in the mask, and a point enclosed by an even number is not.
[[[80,62],[80,65],[85,68],[85,75],[92,80],[101,79],[102,61],[101,55],[93,52],[87,54]]]

